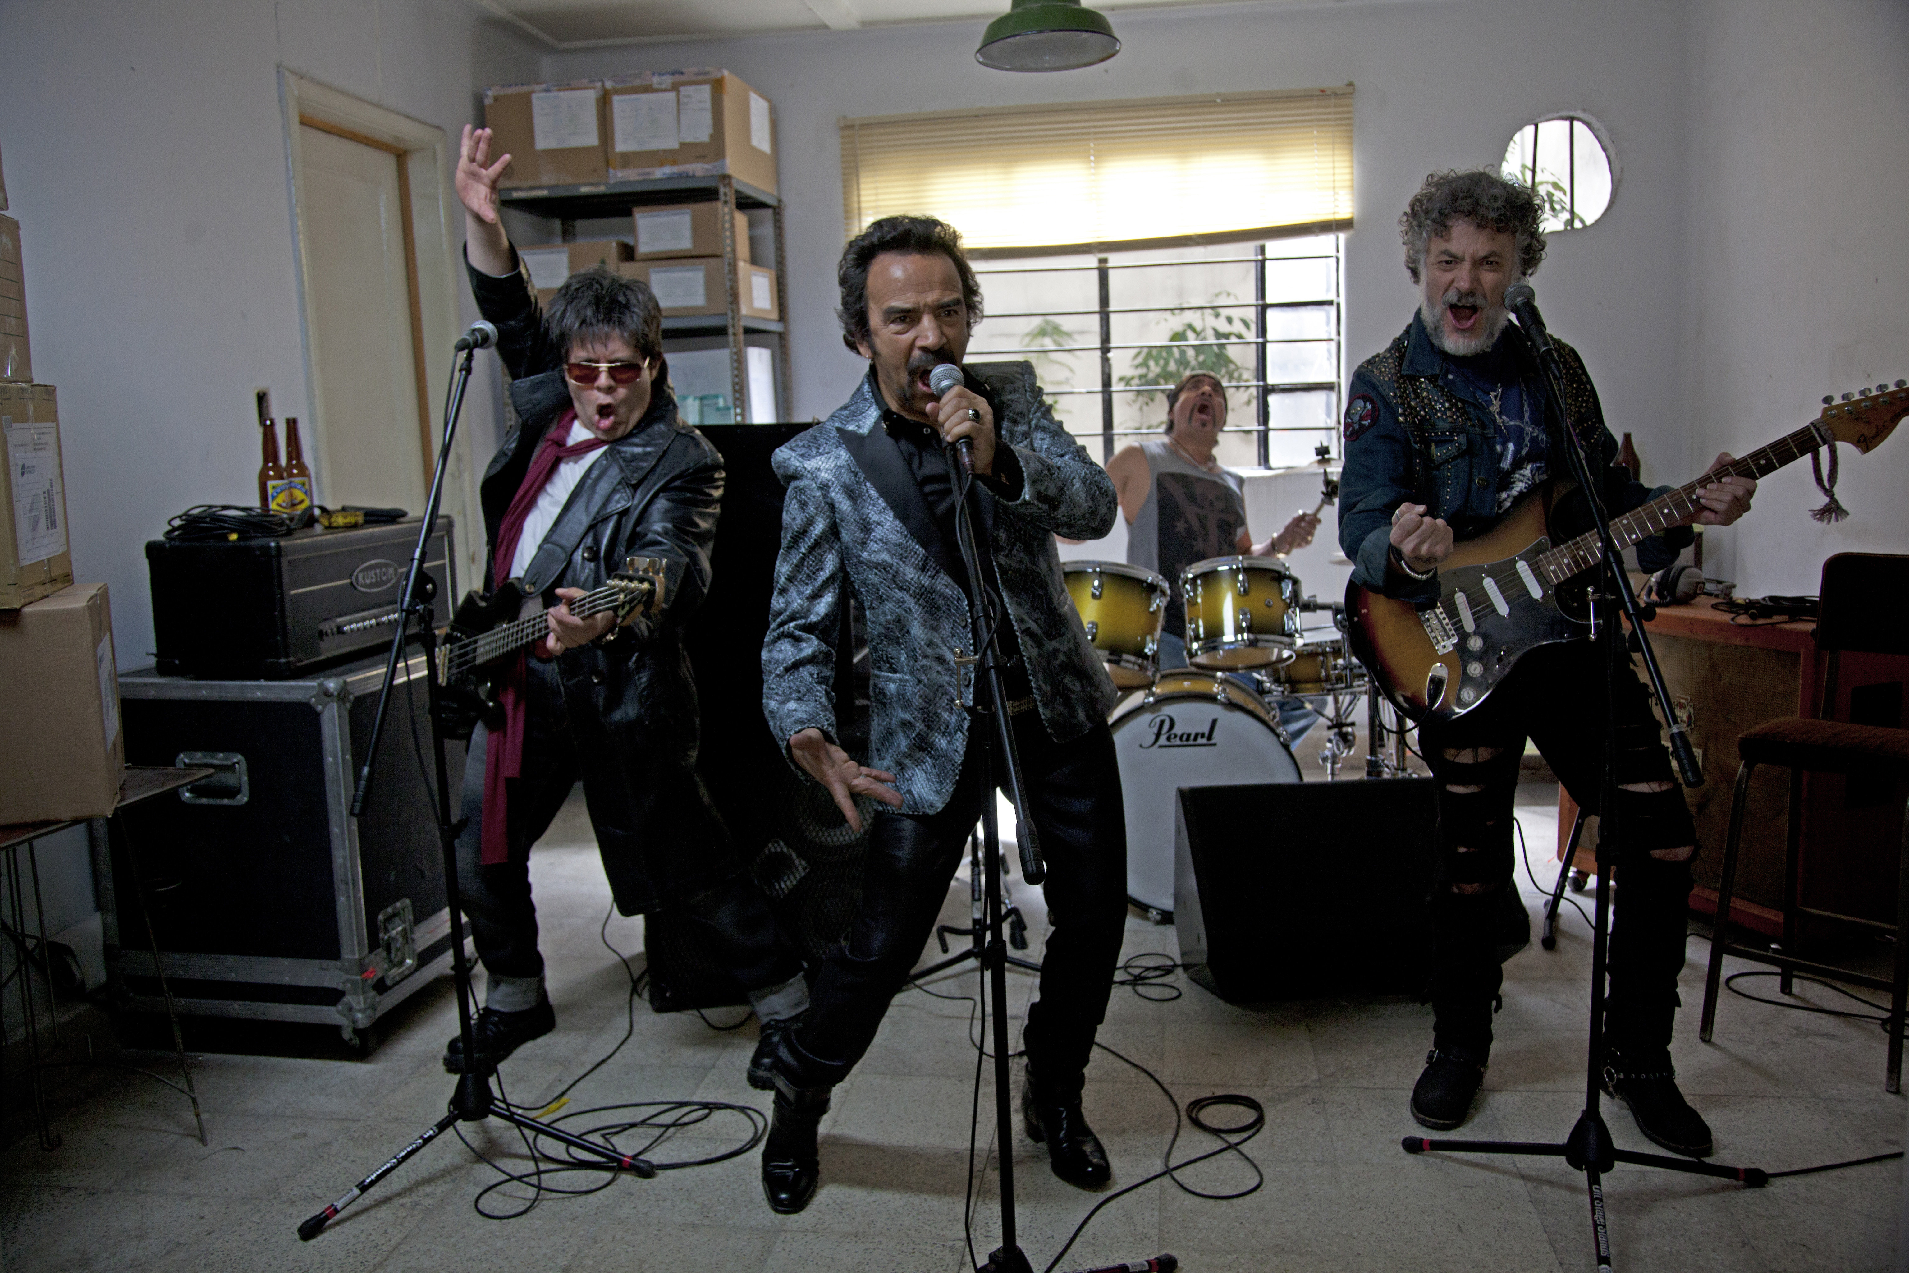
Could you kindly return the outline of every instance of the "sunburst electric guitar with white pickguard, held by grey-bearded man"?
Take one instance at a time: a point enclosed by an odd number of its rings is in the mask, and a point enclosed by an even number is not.
[[[1623,550],[1680,523],[1697,508],[1697,489],[1718,477],[1762,477],[1833,441],[1867,454],[1905,414],[1909,389],[1901,380],[1896,387],[1846,395],[1789,437],[1617,517],[1611,540]],[[1437,601],[1399,601],[1359,584],[1346,588],[1352,647],[1395,708],[1415,721],[1464,716],[1527,651],[1584,636],[1584,590],[1602,550],[1594,531],[1552,542],[1556,513],[1567,504],[1583,508],[1583,494],[1573,483],[1554,479],[1497,527],[1460,542],[1439,563]]]

